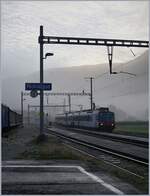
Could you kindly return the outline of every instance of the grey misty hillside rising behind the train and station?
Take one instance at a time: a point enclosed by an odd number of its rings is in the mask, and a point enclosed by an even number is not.
[[[44,81],[52,83],[51,92],[82,92],[83,90],[90,92],[90,81],[85,77],[95,77],[93,97],[97,107],[111,105],[115,110],[118,108],[120,115],[117,115],[117,120],[119,121],[129,118],[147,120],[148,50],[128,63],[113,63],[113,71],[124,73],[110,75],[108,64],[50,68],[44,71]],[[39,73],[4,80],[2,102],[19,110],[20,92],[24,91],[25,82],[39,82]],[[24,108],[26,110],[27,104],[39,105],[39,97],[25,98]],[[45,98],[45,104],[64,104],[64,102],[68,103],[68,97]],[[79,104],[82,104],[84,109],[90,107],[89,97],[72,96],[71,103],[73,110],[79,110],[77,106]]]

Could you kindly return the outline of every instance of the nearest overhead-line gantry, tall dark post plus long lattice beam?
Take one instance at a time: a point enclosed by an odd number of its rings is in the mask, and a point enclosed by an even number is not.
[[[99,39],[99,38],[81,38],[81,37],[59,37],[44,36],[43,26],[40,26],[40,35],[38,38],[40,44],[40,83],[44,81],[43,77],[43,46],[44,44],[67,44],[67,45],[90,45],[90,46],[107,46],[110,74],[112,71],[113,47],[149,47],[148,41],[143,40],[122,40],[122,39]],[[46,58],[46,57],[45,57]],[[43,90],[40,91],[40,133],[43,134]]]

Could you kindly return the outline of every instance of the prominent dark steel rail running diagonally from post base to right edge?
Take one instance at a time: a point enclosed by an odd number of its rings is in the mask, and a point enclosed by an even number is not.
[[[98,151],[102,151],[104,153],[107,153],[107,154],[110,154],[110,155],[113,155],[113,156],[117,156],[117,157],[120,157],[120,158],[123,158],[123,159],[127,159],[127,160],[130,160],[130,161],[133,161],[133,162],[136,162],[136,163],[139,163],[139,164],[142,164],[142,165],[145,165],[145,166],[148,166],[148,161],[146,159],[142,159],[142,158],[139,158],[139,157],[135,157],[135,156],[127,156],[127,154],[124,154],[124,153],[118,153],[118,152],[114,152],[113,150],[109,149],[109,148],[105,148],[105,147],[98,147],[97,145],[91,145],[89,142],[83,142],[79,139],[75,139],[75,138],[72,138],[70,136],[66,136],[64,134],[60,134],[50,128],[47,128],[47,130],[51,131],[51,133],[53,133],[54,135],[60,137],[60,138],[63,138],[63,139],[66,139],[66,140],[69,140],[73,143],[76,143],[76,144],[80,144],[82,146],[86,146],[88,148],[91,148],[91,149],[94,149],[94,150],[98,150]]]

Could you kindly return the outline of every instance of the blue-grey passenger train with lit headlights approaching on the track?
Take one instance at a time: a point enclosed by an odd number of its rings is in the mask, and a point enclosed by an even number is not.
[[[115,114],[109,111],[109,108],[101,107],[95,110],[58,114],[55,123],[76,128],[112,131],[115,128]]]

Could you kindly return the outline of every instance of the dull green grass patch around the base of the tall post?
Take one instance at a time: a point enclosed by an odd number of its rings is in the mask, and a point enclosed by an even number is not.
[[[60,140],[51,137],[43,143],[32,140],[28,143],[28,148],[17,159],[83,160],[83,157],[80,153],[68,149]]]

